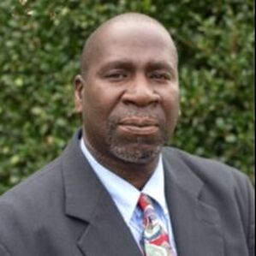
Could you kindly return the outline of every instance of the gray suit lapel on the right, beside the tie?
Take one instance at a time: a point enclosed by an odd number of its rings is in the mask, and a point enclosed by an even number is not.
[[[223,256],[218,212],[199,199],[204,183],[174,155],[164,157],[164,170],[178,255]]]

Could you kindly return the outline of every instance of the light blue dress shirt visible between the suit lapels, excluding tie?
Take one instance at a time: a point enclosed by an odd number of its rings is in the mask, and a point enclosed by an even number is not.
[[[169,234],[171,245],[176,251],[174,234],[170,222],[170,214],[164,195],[164,167],[162,156],[160,155],[157,168],[151,178],[146,182],[142,191],[140,191],[120,176],[116,176],[115,173],[107,170],[102,164],[99,164],[92,156],[91,152],[88,151],[82,139],[80,140],[80,148],[89,161],[89,164],[92,166],[92,170],[95,171],[99,180],[110,193],[110,196],[114,200],[125,223],[127,223],[128,228],[134,235],[134,239],[138,246],[140,247],[140,241],[142,238],[143,216],[142,211],[137,204],[140,198],[140,193],[145,193],[153,199],[154,207],[157,211],[160,222],[162,223],[165,231]]]

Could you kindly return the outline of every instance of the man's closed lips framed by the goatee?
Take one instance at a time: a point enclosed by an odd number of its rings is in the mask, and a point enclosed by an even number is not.
[[[131,116],[122,118],[118,127],[128,134],[150,135],[158,131],[158,122],[149,117]]]

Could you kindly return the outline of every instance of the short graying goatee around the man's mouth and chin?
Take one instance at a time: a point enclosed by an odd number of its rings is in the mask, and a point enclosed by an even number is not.
[[[133,116],[141,116],[133,115]],[[143,115],[145,117],[145,115]],[[156,116],[146,117],[158,120]],[[164,143],[169,138],[168,129],[163,120],[158,120],[158,132],[155,134],[121,134],[118,132],[120,118],[110,116],[107,122],[107,144],[110,153],[130,164],[147,164],[158,158]]]

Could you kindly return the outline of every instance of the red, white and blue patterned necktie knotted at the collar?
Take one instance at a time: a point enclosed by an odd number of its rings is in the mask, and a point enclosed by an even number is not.
[[[152,200],[146,194],[141,194],[138,205],[144,213],[142,243],[145,256],[175,256],[170,247],[169,237],[161,226],[152,205]]]

